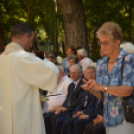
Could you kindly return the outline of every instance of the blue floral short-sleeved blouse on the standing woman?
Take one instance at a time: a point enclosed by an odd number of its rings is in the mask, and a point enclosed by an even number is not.
[[[117,58],[112,71],[108,74],[108,56],[100,59],[97,62],[97,82],[102,85],[119,86],[128,85],[134,86],[134,55],[128,54],[124,49],[121,49],[120,55]],[[124,72],[121,82],[121,63],[125,57]],[[125,122],[122,97],[117,97],[104,93],[104,124],[106,127],[114,127]]]

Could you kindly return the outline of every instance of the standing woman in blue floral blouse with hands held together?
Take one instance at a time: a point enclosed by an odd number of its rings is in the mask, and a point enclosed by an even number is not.
[[[97,80],[85,81],[83,88],[103,99],[103,119],[107,134],[133,134],[133,123],[125,119],[123,97],[133,94],[134,55],[120,49],[123,34],[120,26],[114,22],[104,23],[97,31],[97,37],[101,51],[107,56],[97,62]]]

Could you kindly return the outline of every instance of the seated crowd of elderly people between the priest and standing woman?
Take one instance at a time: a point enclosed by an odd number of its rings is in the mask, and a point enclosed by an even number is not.
[[[134,53],[134,46],[129,42],[122,43],[120,49],[122,48]],[[36,56],[40,57],[38,53],[44,56],[43,52],[35,52]],[[47,101],[43,101],[42,105],[46,132],[47,134],[105,134],[103,101],[80,87],[84,84],[83,78],[96,79],[96,63],[88,58],[86,50],[82,47],[75,49],[73,45],[68,45],[66,55],[64,59],[60,57],[60,62],[57,62],[56,56],[52,53],[46,57],[56,64],[59,70],[57,93],[45,94]],[[106,54],[100,50],[100,56],[105,57]],[[74,93],[73,84],[78,92]]]

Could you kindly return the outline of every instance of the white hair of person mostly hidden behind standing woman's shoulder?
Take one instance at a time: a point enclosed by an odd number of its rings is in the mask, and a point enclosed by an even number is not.
[[[134,54],[134,45],[130,42],[123,42],[120,44],[120,47],[123,48],[127,53]]]

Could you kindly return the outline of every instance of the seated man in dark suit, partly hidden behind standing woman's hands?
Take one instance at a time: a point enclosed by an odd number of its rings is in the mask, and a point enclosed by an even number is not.
[[[86,79],[92,80],[95,78],[95,67],[89,66],[86,69]],[[61,134],[82,134],[84,126],[96,117],[95,111],[102,112],[102,101],[98,100],[91,92],[85,92],[81,102],[72,112],[72,117],[66,118],[64,122],[62,122],[63,117],[58,118],[57,127],[61,130]]]

